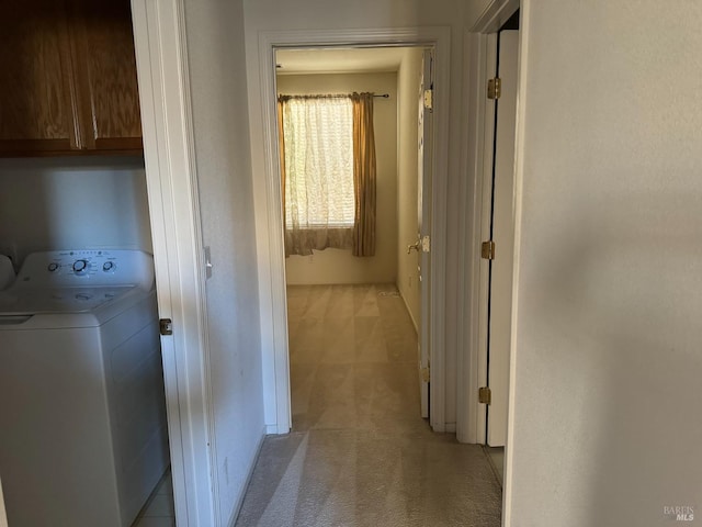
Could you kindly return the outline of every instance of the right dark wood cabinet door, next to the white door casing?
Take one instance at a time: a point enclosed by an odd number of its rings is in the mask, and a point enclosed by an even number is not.
[[[129,1],[69,1],[82,142],[89,149],[140,149]]]

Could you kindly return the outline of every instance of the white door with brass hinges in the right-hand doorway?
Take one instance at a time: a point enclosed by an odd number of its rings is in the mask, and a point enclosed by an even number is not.
[[[498,77],[501,79],[501,96],[496,104],[491,222],[495,258],[490,261],[487,367],[488,386],[491,392],[491,401],[487,407],[487,444],[492,447],[505,446],[507,439],[514,246],[513,188],[518,55],[519,32],[500,32]]]

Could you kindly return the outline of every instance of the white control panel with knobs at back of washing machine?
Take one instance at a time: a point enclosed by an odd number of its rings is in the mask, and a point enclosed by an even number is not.
[[[140,250],[50,250],[26,257],[14,282],[26,287],[81,288],[154,284],[152,257]]]

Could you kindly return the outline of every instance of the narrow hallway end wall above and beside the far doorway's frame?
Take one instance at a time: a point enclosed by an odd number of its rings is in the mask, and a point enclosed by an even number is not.
[[[263,322],[263,352],[269,397],[274,394],[272,380],[273,341],[271,335],[276,330],[270,323],[274,307],[267,300],[272,296],[275,277],[268,265],[270,260],[268,210],[265,203],[267,175],[264,131],[261,98],[261,74],[259,71],[259,38],[262,32],[271,31],[310,31],[337,29],[384,29],[444,26],[451,27],[451,86],[450,86],[450,131],[449,131],[449,188],[448,203],[441,211],[446,217],[446,298],[445,298],[445,422],[448,428],[455,423],[455,372],[456,372],[456,292],[457,292],[457,239],[458,239],[458,189],[461,187],[462,152],[464,150],[462,70],[463,70],[463,20],[465,2],[462,0],[362,0],[359,2],[321,2],[301,0],[282,2],[280,0],[245,0],[245,30],[247,53],[247,79],[249,88],[249,119],[251,131],[251,162],[253,170],[253,195],[257,217],[257,239],[259,255],[259,276],[261,277],[260,298],[262,299],[261,319]],[[265,53],[265,51],[263,51]],[[446,57],[444,57],[446,58]],[[270,65],[273,67],[273,65]],[[274,421],[272,407],[268,407],[268,419]],[[269,424],[273,424],[269,422]]]

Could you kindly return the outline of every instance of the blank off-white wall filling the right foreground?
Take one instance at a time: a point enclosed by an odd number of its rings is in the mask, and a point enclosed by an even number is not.
[[[699,520],[702,9],[524,3],[509,525]]]

